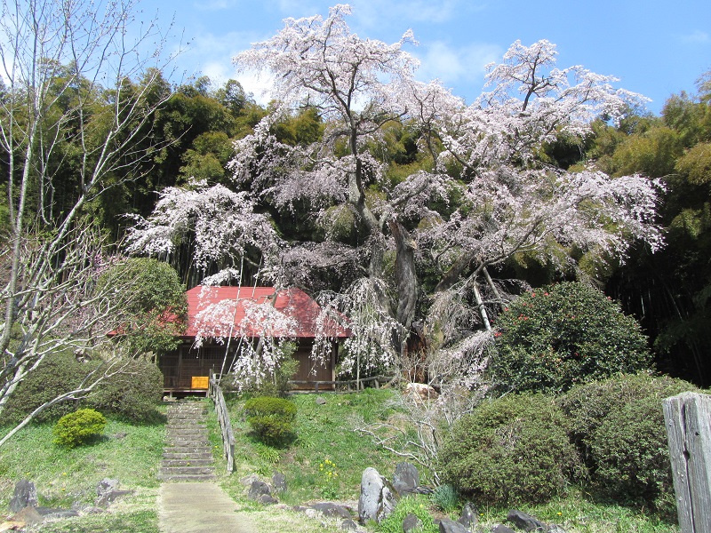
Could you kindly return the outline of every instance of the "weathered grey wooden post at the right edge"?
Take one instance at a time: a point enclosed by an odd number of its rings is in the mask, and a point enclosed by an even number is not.
[[[663,402],[681,533],[711,532],[711,396]]]

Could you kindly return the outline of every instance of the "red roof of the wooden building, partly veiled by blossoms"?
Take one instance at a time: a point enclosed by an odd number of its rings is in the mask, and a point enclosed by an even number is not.
[[[300,289],[274,287],[208,287],[188,290],[188,327],[184,337],[314,338],[321,307]],[[321,327],[327,337],[347,338],[350,330],[327,319]]]

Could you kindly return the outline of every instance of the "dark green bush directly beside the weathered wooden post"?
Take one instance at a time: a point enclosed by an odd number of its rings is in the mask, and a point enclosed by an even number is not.
[[[673,505],[662,400],[689,390],[698,389],[641,373],[576,386],[557,401],[598,497]]]

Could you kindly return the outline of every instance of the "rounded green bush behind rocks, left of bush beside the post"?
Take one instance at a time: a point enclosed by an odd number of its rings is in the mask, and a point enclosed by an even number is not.
[[[579,458],[563,412],[543,394],[508,394],[459,419],[439,453],[441,477],[487,505],[563,493]]]

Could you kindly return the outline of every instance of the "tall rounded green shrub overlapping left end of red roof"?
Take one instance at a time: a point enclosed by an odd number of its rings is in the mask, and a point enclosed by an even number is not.
[[[123,286],[126,279],[133,280],[132,293],[121,295],[125,326],[116,337],[138,354],[175,349],[188,314],[185,287],[178,273],[156,259],[132,258],[110,268],[99,283],[111,286],[121,282]]]

